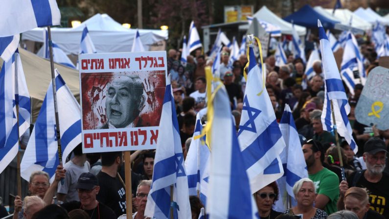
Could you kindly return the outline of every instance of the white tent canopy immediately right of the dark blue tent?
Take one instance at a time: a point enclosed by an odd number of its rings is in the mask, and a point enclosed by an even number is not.
[[[320,7],[320,6],[316,6],[315,8],[318,8],[318,7]],[[327,14],[332,16],[332,11],[334,9],[325,8],[323,10],[325,12],[327,12]],[[371,29],[371,27],[372,27],[370,23],[366,22],[363,18],[359,17],[358,15],[355,15],[354,13],[352,13],[352,11],[350,11],[348,9],[343,9],[343,8],[336,9],[334,17],[337,18],[338,20],[340,20],[341,23],[344,25],[349,25],[350,18],[352,18],[351,26],[355,27],[355,28],[363,29],[365,31]]]

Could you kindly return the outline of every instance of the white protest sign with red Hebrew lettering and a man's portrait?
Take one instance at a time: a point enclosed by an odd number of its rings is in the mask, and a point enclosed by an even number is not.
[[[166,52],[80,54],[84,153],[155,149]]]

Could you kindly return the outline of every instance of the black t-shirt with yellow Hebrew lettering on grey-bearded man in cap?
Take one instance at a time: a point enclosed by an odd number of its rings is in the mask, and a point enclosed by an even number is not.
[[[356,172],[351,173],[347,178],[349,187],[353,186],[352,182],[355,173]],[[364,173],[365,171],[363,171],[355,186],[366,188],[367,193],[369,194],[370,209],[389,219],[389,175],[386,172],[383,172],[381,180],[379,182],[372,183],[366,180]]]

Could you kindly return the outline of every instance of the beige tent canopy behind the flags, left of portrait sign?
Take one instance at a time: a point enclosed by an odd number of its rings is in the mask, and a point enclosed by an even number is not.
[[[31,115],[33,122],[35,122],[46,96],[48,85],[51,81],[50,61],[22,48],[19,48],[19,53],[22,59],[28,92],[31,96]],[[0,67],[2,67],[2,63],[3,62],[0,62]],[[77,101],[80,101],[80,80],[78,71],[57,63],[54,63],[54,68],[58,69],[71,93],[76,97]]]

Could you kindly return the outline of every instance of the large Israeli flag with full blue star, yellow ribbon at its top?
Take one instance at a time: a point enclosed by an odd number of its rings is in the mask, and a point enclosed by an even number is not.
[[[246,93],[243,98],[238,139],[253,194],[284,174],[279,155],[285,147],[285,142],[252,45],[249,53]]]

